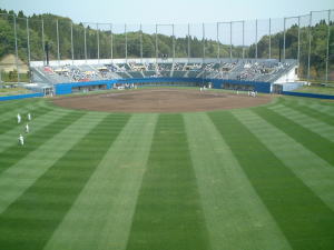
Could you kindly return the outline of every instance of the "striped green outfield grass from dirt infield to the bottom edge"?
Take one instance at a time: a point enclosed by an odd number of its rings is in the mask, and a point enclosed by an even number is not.
[[[0,114],[0,249],[334,249],[332,102],[126,114],[26,99]]]

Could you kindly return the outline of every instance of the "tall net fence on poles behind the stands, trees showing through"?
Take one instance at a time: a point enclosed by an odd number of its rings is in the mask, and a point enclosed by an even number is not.
[[[1,76],[14,71],[18,81],[30,61],[135,59],[175,62],[183,58],[205,61],[294,59],[298,77],[334,80],[334,10],[267,20],[239,20],[189,24],[72,23],[51,14],[20,17],[0,13]],[[14,67],[9,67],[12,63]],[[28,74],[29,76],[29,74]],[[3,79],[3,77],[2,77]]]

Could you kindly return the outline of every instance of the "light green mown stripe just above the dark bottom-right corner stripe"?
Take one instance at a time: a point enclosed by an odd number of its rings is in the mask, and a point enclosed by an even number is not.
[[[333,166],[256,113],[240,110],[234,114],[334,211]]]

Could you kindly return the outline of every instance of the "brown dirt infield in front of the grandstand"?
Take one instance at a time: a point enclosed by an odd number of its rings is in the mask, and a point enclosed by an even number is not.
[[[101,94],[60,97],[63,108],[110,112],[194,112],[248,108],[271,102],[272,96],[183,89],[119,90]]]

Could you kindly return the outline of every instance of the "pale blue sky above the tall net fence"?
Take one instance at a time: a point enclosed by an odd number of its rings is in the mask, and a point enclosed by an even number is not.
[[[210,23],[284,18],[334,9],[333,0],[0,0],[26,14],[53,13],[75,22]]]

